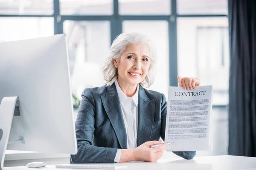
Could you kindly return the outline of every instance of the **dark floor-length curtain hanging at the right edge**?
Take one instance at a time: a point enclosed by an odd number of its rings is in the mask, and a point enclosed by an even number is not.
[[[256,0],[228,0],[229,154],[256,157]]]

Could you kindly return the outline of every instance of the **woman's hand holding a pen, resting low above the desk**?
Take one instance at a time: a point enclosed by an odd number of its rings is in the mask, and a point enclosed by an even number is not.
[[[149,141],[141,144],[140,146],[134,148],[134,157],[137,161],[154,162],[163,156],[163,151],[167,146],[164,143],[160,146],[151,148],[151,145],[160,144],[162,141]]]

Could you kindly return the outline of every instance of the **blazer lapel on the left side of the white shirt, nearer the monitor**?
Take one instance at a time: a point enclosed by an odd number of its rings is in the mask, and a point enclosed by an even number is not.
[[[106,95],[101,96],[101,98],[105,111],[116,133],[116,137],[119,141],[121,149],[127,149],[125,123],[123,120],[122,110],[114,83],[111,86],[107,86]]]

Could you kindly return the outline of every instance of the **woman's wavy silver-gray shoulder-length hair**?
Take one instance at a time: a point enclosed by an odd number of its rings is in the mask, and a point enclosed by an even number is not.
[[[128,44],[143,43],[148,45],[150,51],[150,66],[148,74],[145,79],[140,82],[140,85],[148,88],[151,86],[155,79],[155,67],[157,61],[157,51],[153,42],[143,34],[137,32],[122,33],[113,41],[109,50],[108,57],[105,59],[105,66],[103,68],[103,77],[107,81],[107,86],[113,84],[118,77],[117,68],[113,64],[113,59],[119,59]]]

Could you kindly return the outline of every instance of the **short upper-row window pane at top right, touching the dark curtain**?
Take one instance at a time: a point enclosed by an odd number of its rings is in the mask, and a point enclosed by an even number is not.
[[[227,14],[227,0],[177,0],[178,14]]]

